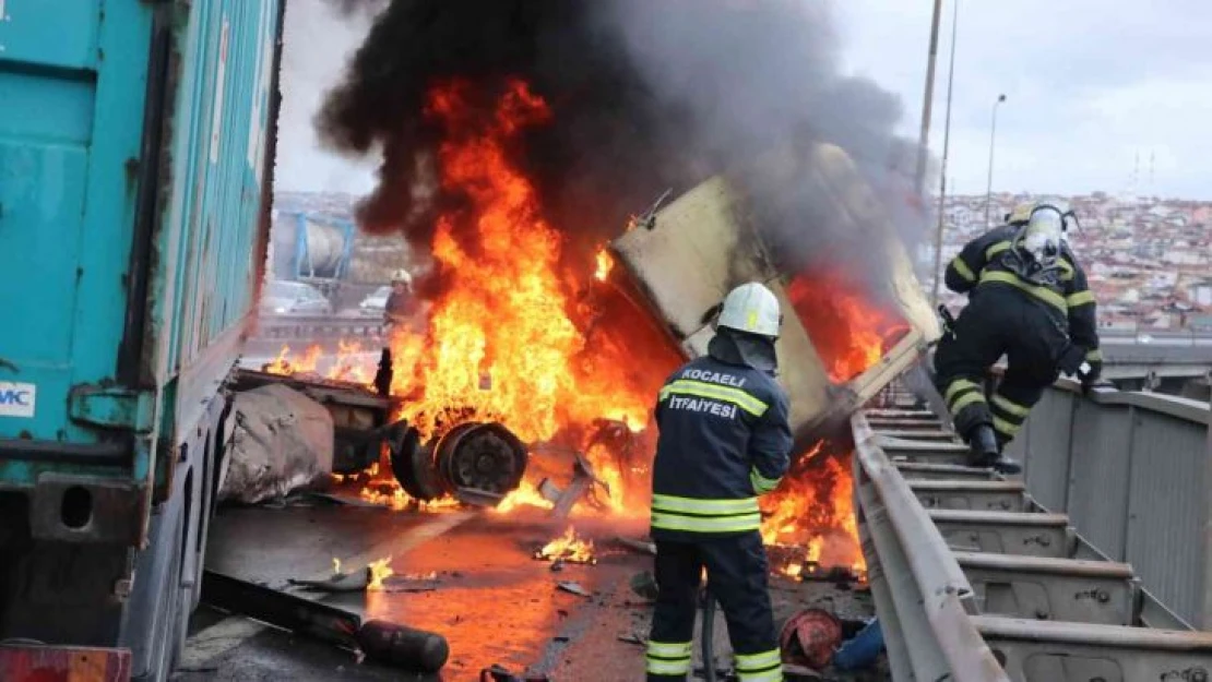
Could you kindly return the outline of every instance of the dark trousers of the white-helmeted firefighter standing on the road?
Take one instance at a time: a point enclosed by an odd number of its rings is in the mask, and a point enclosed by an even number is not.
[[[645,657],[647,680],[686,680],[703,568],[707,568],[708,589],[728,624],[738,680],[783,680],[761,534],[751,531],[694,541],[658,539],[656,545],[658,596]]]

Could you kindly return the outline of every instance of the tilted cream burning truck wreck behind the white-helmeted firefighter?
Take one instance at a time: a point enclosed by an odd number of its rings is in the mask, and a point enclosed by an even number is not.
[[[708,179],[661,211],[633,220],[610,246],[644,292],[650,314],[667,323],[687,357],[707,353],[714,317],[737,283],[760,281],[784,311],[778,340],[779,380],[791,401],[797,452],[819,441],[830,424],[850,413],[938,339],[938,320],[921,293],[904,243],[882,213],[871,188],[839,147],[814,144],[806,160],[766,157],[737,182]],[[846,235],[865,245],[865,269],[846,276],[827,258],[797,269],[781,262],[779,240],[760,219],[759,201],[747,193],[755,182],[788,188],[814,202],[802,235]],[[822,217],[830,224],[812,224]],[[836,242],[824,245],[840,250]],[[836,254],[845,264],[845,254]],[[854,265],[854,264],[851,264]]]

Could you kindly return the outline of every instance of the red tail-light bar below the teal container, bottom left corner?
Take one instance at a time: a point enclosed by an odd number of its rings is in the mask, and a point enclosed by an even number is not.
[[[130,678],[130,649],[0,644],[0,680],[5,682],[128,682]]]

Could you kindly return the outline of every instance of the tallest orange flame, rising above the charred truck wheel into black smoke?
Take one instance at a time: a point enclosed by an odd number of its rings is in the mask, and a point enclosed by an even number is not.
[[[600,417],[646,423],[651,391],[630,390],[621,362],[587,348],[559,276],[560,235],[508,157],[511,138],[550,110],[520,81],[487,122],[470,115],[465,96],[447,85],[429,101],[447,128],[442,183],[470,208],[438,219],[433,257],[448,286],[424,342],[407,333],[391,342],[391,392],[408,397],[401,417],[425,437],[456,418],[496,419],[530,442]]]

